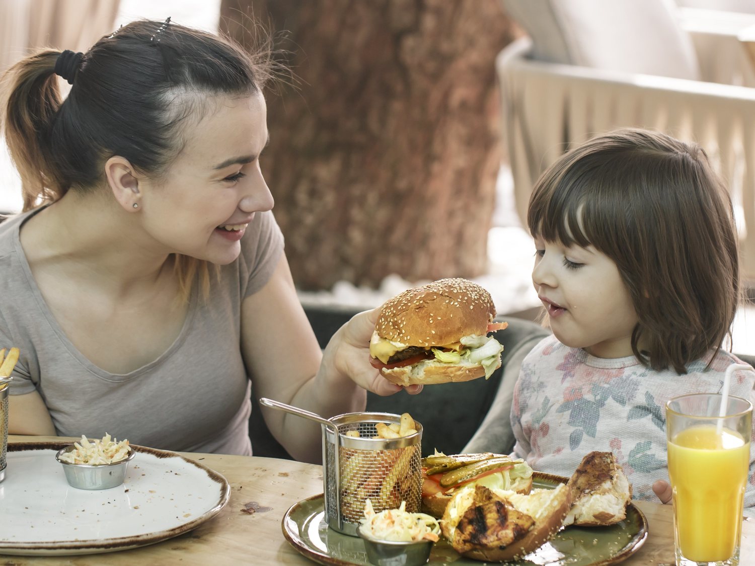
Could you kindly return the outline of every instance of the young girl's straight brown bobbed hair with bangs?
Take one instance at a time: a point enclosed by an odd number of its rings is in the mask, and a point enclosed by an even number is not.
[[[527,224],[545,241],[592,245],[616,263],[639,319],[632,351],[650,368],[684,374],[729,334],[737,233],[700,146],[636,129],[594,137],[541,175]]]

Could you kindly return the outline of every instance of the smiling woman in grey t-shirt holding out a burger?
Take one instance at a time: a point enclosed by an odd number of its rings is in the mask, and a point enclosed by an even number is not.
[[[297,300],[260,171],[269,59],[169,20],[5,74],[25,203],[0,225],[11,434],[251,454],[250,387],[328,416],[362,410],[362,388],[400,390],[368,363],[376,312],[323,357]],[[319,426],[265,417],[319,460]]]

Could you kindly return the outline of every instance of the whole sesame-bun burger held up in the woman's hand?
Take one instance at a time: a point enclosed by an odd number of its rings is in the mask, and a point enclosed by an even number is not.
[[[466,279],[440,279],[385,303],[370,340],[371,364],[396,385],[468,381],[491,376],[504,346],[488,332],[495,306],[488,291]]]

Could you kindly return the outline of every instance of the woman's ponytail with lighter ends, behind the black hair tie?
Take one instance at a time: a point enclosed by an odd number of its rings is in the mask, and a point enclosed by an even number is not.
[[[23,210],[57,201],[66,188],[50,155],[49,137],[60,108],[55,62],[60,51],[25,57],[2,77],[5,140],[21,176]]]

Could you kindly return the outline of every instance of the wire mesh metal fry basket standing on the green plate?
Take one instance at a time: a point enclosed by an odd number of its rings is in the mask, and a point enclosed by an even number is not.
[[[401,438],[376,438],[375,425],[400,424],[390,413],[347,413],[322,424],[323,491],[328,527],[356,537],[365,516],[365,500],[375,512],[396,509],[418,512],[421,505],[422,425]],[[337,429],[337,432],[336,432]],[[347,436],[358,431],[359,437]]]

